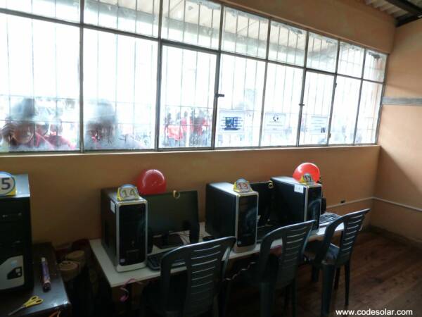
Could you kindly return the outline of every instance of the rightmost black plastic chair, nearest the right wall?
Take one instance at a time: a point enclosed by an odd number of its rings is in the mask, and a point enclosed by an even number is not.
[[[328,316],[330,311],[331,293],[335,275],[335,289],[338,288],[340,268],[345,267],[345,305],[349,304],[350,289],[350,258],[354,242],[362,228],[362,223],[369,209],[348,213],[330,223],[324,235],[324,240],[309,242],[305,255],[312,265],[312,281],[317,282],[319,271],[323,271],[321,316]],[[335,228],[343,224],[339,247],[331,243]]]

